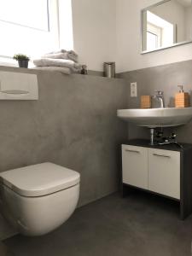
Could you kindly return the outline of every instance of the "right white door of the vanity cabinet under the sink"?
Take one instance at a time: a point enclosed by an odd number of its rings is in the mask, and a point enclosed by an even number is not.
[[[180,153],[148,148],[148,190],[180,199]]]

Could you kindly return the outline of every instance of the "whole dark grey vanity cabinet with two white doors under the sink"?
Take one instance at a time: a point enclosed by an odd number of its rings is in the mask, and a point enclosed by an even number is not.
[[[192,145],[150,146],[145,140],[122,145],[122,192],[144,189],[178,201],[180,216],[192,212]]]

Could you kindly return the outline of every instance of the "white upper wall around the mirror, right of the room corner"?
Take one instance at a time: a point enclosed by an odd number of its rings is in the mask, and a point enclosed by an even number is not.
[[[140,54],[141,9],[158,0],[116,0],[117,17],[117,72],[155,67],[192,59],[192,44]],[[174,11],[174,10],[173,10]]]

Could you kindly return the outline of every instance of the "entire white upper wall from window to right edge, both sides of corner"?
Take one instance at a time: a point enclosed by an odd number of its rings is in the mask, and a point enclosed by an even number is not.
[[[140,54],[141,9],[160,0],[72,0],[74,49],[90,70],[126,72],[192,59],[192,44]],[[174,10],[173,10],[174,12]]]

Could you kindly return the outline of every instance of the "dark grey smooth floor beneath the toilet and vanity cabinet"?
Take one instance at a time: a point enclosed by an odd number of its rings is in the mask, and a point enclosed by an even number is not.
[[[155,195],[119,194],[81,207],[46,236],[14,236],[15,256],[189,256],[192,217],[181,221],[177,203]]]

